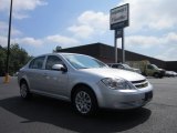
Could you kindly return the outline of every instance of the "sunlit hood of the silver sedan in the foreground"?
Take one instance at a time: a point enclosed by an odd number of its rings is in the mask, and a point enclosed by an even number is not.
[[[116,79],[125,79],[127,81],[138,81],[138,80],[145,80],[145,76],[142,74],[126,71],[126,70],[119,70],[119,69],[82,69],[81,72],[84,72],[86,74],[93,74],[97,75],[101,79],[103,78],[116,78]]]

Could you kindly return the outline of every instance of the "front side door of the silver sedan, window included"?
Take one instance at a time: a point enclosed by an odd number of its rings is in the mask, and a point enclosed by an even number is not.
[[[56,55],[49,55],[44,71],[44,91],[52,95],[67,95],[67,72],[52,70],[54,64],[63,64],[63,61]]]

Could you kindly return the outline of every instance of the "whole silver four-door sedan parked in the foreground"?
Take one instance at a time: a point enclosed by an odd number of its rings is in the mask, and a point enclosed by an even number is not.
[[[37,57],[19,71],[18,82],[23,99],[38,93],[70,101],[82,115],[97,108],[136,109],[153,99],[153,86],[145,76],[75,53]]]

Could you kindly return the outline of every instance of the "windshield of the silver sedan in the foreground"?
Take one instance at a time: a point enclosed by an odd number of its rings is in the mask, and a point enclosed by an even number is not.
[[[91,68],[107,68],[103,62],[81,54],[64,54],[64,58],[75,68],[75,69],[91,69]]]

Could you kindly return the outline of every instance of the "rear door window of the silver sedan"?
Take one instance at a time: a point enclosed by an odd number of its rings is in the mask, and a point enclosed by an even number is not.
[[[45,59],[45,57],[40,57],[40,58],[33,59],[31,61],[29,68],[30,69],[42,69],[44,59]]]

